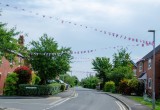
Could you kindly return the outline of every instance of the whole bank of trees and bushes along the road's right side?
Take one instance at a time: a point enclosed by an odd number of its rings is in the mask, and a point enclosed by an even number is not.
[[[134,65],[126,49],[122,48],[114,53],[112,62],[110,58],[97,57],[93,59],[92,65],[97,74],[82,79],[83,87],[98,87],[106,92],[143,95],[144,84],[134,76]],[[95,79],[96,81],[91,83],[91,80]]]

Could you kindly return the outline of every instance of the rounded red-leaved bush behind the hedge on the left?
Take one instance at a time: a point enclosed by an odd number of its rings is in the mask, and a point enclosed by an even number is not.
[[[31,70],[27,66],[21,66],[14,70],[18,74],[18,84],[28,84],[31,81]]]

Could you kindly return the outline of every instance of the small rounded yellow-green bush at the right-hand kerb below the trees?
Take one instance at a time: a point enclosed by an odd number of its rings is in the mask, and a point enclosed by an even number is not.
[[[113,81],[108,81],[104,85],[105,92],[115,92],[115,83]]]

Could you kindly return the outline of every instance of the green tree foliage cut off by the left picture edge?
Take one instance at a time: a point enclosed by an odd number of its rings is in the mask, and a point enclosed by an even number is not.
[[[19,32],[16,32],[15,27],[6,29],[5,26],[6,24],[0,22],[0,63],[2,57],[9,61],[16,61],[17,53],[21,52],[21,46],[15,38]]]

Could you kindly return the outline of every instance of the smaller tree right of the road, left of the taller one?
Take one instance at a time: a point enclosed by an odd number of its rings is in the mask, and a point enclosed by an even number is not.
[[[94,71],[97,72],[97,77],[103,80],[103,85],[106,81],[109,81],[109,74],[112,70],[112,64],[110,63],[110,59],[106,57],[97,57],[92,62]]]

